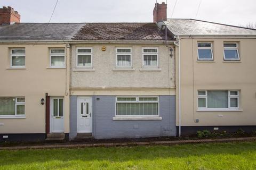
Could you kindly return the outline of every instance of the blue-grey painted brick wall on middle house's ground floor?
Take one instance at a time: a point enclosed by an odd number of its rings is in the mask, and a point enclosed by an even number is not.
[[[99,100],[97,100],[97,98]],[[175,96],[159,96],[162,120],[113,121],[115,96],[92,98],[92,134],[95,139],[175,136]],[[94,112],[95,109],[95,112]],[[77,97],[70,97],[70,139],[76,136]]]

